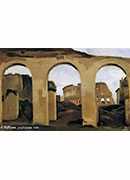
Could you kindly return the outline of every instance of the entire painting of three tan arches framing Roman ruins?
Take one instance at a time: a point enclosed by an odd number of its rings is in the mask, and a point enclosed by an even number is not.
[[[0,130],[127,131],[129,48],[1,48]]]

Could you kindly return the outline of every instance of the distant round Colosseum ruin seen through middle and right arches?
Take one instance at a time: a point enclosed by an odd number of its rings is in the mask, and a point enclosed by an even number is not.
[[[81,104],[81,84],[77,86],[69,85],[63,88],[64,100],[70,101],[76,105]],[[98,106],[114,104],[112,92],[106,83],[96,83],[96,101]]]

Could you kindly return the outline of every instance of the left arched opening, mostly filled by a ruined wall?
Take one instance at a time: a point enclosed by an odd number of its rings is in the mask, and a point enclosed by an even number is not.
[[[3,124],[32,123],[32,75],[24,65],[14,64],[3,72],[2,112]]]

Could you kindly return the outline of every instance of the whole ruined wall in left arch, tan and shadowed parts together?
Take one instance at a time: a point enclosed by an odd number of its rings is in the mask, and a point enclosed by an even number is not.
[[[20,101],[32,103],[32,79],[28,75],[3,76],[3,120],[19,117]]]

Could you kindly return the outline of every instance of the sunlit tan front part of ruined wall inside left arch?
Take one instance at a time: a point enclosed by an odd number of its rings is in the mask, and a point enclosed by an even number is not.
[[[16,120],[19,116],[19,92],[22,90],[20,75],[5,75],[3,77],[3,120]]]

